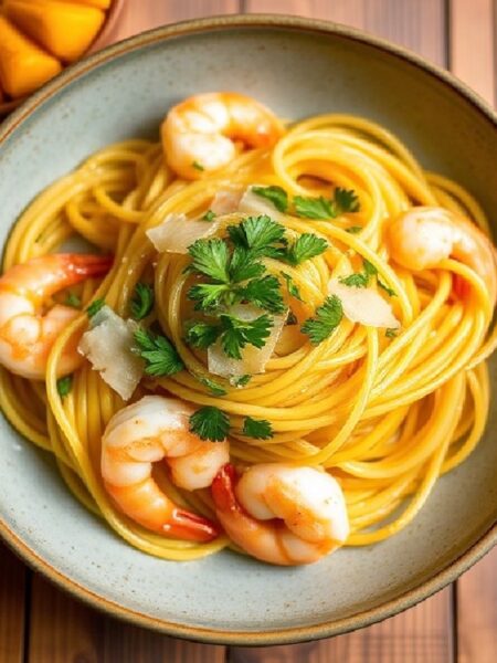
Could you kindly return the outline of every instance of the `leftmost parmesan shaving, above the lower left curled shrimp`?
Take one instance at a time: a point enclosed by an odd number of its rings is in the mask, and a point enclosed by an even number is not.
[[[92,329],[83,334],[77,351],[86,357],[102,379],[129,400],[145,370],[145,362],[133,352],[134,320],[124,320],[108,306],[92,318]]]

